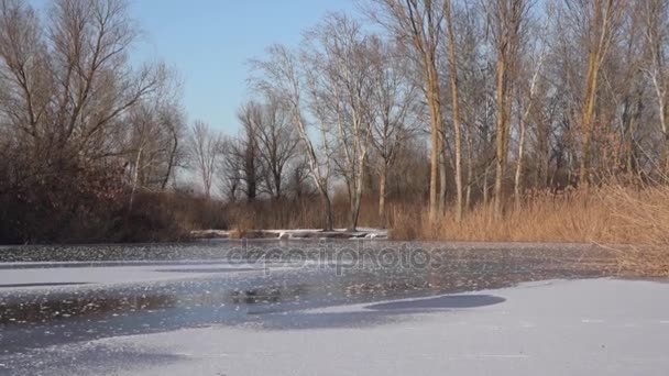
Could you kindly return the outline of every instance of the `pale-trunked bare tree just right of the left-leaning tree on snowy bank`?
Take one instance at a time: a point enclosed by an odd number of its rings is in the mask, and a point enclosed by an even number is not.
[[[370,42],[358,22],[340,13],[328,15],[309,34],[308,82],[317,98],[311,106],[336,140],[333,162],[349,191],[349,230],[355,230],[372,143]]]

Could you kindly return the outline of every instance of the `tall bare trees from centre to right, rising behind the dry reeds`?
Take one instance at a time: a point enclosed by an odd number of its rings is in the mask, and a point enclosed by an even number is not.
[[[390,176],[407,153],[426,161],[415,193],[434,221],[448,211],[460,222],[489,203],[501,219],[536,191],[666,184],[669,1],[359,5],[363,15],[329,14],[299,45],[252,59],[250,88],[262,104],[240,111],[246,142],[234,154],[253,159],[265,124],[281,119],[282,144],[298,145],[327,228],[341,186],[349,228],[365,196],[379,198],[383,222],[388,180],[413,178]],[[239,170],[221,174],[238,181]],[[255,186],[252,176],[242,174],[243,187]]]

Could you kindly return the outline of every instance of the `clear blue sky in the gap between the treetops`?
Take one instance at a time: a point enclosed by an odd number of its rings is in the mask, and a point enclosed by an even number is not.
[[[176,67],[189,120],[235,132],[246,98],[245,62],[273,43],[296,44],[328,11],[352,0],[130,0],[146,33],[138,52]],[[31,0],[39,8],[50,0]]]

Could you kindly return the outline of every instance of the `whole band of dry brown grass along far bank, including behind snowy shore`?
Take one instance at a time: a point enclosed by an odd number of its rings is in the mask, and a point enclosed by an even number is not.
[[[217,225],[217,229],[233,230],[232,237],[248,236],[253,230],[323,225],[318,197],[196,207],[199,208],[196,217],[200,219],[189,228],[206,230],[213,228],[207,225]],[[391,237],[399,241],[599,244],[615,256],[621,274],[669,275],[669,188],[610,186],[558,195],[535,191],[524,197],[519,208],[509,202],[500,219],[494,218],[491,206],[479,204],[461,223],[456,222],[450,211],[430,221],[427,208],[418,203],[391,201],[388,208],[387,218],[381,219],[376,198],[366,197],[359,225],[388,226]],[[346,195],[337,195],[333,199],[336,226],[348,225],[348,211]]]

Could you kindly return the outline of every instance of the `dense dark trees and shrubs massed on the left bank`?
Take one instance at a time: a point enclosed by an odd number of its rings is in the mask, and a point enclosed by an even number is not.
[[[123,0],[0,1],[0,241],[179,236],[142,191],[184,163],[178,81],[131,64]]]

